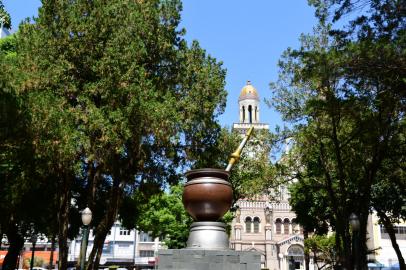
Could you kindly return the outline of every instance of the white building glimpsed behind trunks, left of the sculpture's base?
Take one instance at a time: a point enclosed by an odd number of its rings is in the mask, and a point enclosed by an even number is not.
[[[93,248],[94,235],[89,233],[87,256]],[[80,254],[81,237],[71,241],[68,261],[76,262]],[[109,265],[127,266],[132,269],[153,269],[156,264],[156,252],[161,249],[158,238],[138,230],[127,230],[116,221],[104,242],[100,267]]]

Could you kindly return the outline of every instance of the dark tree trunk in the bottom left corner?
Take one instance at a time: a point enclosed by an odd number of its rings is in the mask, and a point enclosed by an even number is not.
[[[18,268],[18,256],[21,249],[24,247],[24,238],[18,233],[18,227],[13,221],[10,223],[7,230],[7,239],[10,244],[7,255],[3,261],[3,270],[14,270]]]

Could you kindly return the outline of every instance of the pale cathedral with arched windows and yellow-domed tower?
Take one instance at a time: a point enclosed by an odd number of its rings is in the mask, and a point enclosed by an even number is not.
[[[233,130],[245,134],[251,126],[254,130],[269,129],[268,124],[260,122],[260,99],[250,81],[242,88],[238,104],[239,122],[233,124]],[[279,189],[277,202],[265,195],[237,202],[231,248],[259,252],[262,269],[304,269],[303,231],[295,223],[287,188]]]

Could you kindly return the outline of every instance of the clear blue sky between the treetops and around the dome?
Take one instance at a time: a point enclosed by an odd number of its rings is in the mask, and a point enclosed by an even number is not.
[[[37,16],[39,0],[3,0],[13,29]],[[271,130],[283,125],[280,115],[264,103],[269,83],[278,77],[278,60],[288,47],[299,47],[301,33],[311,33],[317,21],[307,0],[183,0],[181,27],[191,43],[198,40],[227,69],[227,107],[223,126],[238,122],[238,96],[247,80],[261,98],[262,123]]]

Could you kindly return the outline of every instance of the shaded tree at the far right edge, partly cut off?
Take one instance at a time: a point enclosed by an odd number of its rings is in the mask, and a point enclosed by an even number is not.
[[[376,99],[389,117],[385,119],[388,125],[393,124],[395,136],[387,144],[391,156],[382,162],[382,172],[377,172],[379,183],[372,187],[371,204],[377,211],[382,224],[390,231],[391,222],[404,217],[400,210],[405,193],[404,171],[404,111],[405,111],[405,27],[406,6],[403,1],[309,1],[316,7],[320,20],[328,20],[322,10],[331,10],[334,14],[332,21],[343,20],[344,15],[364,10],[357,14],[345,30],[331,31],[330,35],[340,40],[340,48],[346,51],[346,80],[357,88],[364,88],[372,94],[376,91]],[[324,13],[326,14],[326,13]],[[370,68],[374,67],[374,68]],[[379,91],[381,90],[381,91]],[[392,101],[395,101],[392,103]],[[392,109],[392,111],[391,111]],[[394,113],[392,115],[392,113]],[[396,119],[395,121],[391,121]],[[392,148],[394,147],[394,148]],[[402,149],[399,151],[399,148]],[[396,175],[394,177],[394,175]],[[391,187],[394,185],[393,187]],[[400,188],[401,192],[390,193],[390,190]],[[383,198],[386,199],[383,200]],[[390,218],[388,218],[390,217]],[[404,258],[399,250],[394,235],[391,236],[400,267],[406,269]]]

